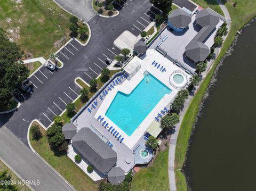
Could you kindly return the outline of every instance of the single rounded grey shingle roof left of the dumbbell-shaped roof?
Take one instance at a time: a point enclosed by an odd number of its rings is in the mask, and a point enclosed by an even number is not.
[[[173,27],[186,28],[191,22],[191,16],[182,9],[175,9],[169,14],[168,21],[172,24]]]

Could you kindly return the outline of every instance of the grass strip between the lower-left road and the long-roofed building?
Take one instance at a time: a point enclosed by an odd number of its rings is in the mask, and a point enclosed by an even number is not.
[[[98,190],[97,184],[69,159],[66,155],[57,156],[51,150],[48,139],[45,135],[45,130],[41,128],[43,137],[36,141],[31,139],[29,134],[29,141],[34,150],[41,155],[60,175],[62,175],[76,190]]]

